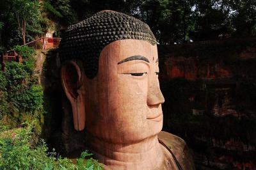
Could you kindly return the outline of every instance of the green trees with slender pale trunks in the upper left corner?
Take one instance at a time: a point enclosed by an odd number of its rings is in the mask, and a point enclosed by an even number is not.
[[[34,40],[47,29],[38,0],[1,0],[0,22],[0,47],[3,49]]]

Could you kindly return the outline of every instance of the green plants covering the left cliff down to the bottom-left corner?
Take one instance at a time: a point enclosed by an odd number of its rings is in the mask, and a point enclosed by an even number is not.
[[[40,135],[50,112],[33,74],[36,53],[26,46],[15,50],[22,63],[7,62],[0,71],[0,169],[102,169],[87,151],[73,164],[48,150]]]

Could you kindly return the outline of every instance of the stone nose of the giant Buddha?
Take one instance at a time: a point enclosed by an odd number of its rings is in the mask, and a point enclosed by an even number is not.
[[[147,105],[159,105],[164,103],[164,97],[161,92],[159,81],[156,77],[149,82],[147,93]]]

